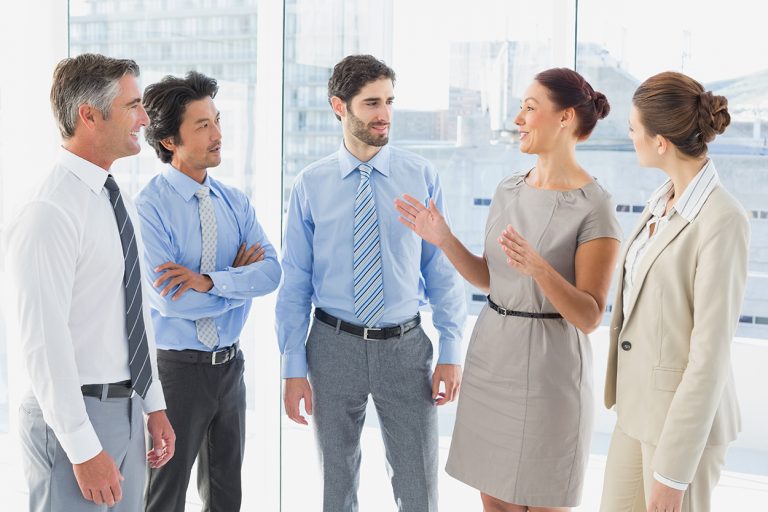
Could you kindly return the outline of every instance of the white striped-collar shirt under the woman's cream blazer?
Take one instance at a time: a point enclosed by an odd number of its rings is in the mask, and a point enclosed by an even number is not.
[[[659,233],[669,224],[669,219],[672,215],[680,215],[688,222],[693,222],[693,219],[701,211],[701,207],[704,206],[704,202],[709,197],[712,190],[720,183],[720,179],[717,175],[717,169],[715,164],[711,160],[707,160],[704,167],[696,174],[691,183],[685,188],[683,195],[679,197],[675,205],[670,208],[669,212],[664,215],[664,210],[667,208],[667,202],[674,193],[674,185],[672,180],[667,180],[651,195],[648,200],[648,210],[651,212],[651,218],[645,223],[645,227],[632,241],[627,251],[627,258],[624,262],[624,289],[622,290],[622,303],[624,306],[624,317],[629,313],[629,298],[632,294],[632,287],[637,279],[637,273],[640,269],[640,264],[643,260],[643,256],[647,252],[654,240],[658,238]],[[655,225],[655,228],[651,230],[651,227]],[[684,491],[688,488],[688,484],[684,482],[677,482],[670,480],[656,472],[653,473],[654,478],[666,485],[679,491]]]

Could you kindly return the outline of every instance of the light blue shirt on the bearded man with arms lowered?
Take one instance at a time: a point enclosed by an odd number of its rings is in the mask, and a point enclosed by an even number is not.
[[[305,168],[291,192],[283,241],[283,283],[276,328],[282,376],[306,377],[305,342],[312,305],[342,320],[355,317],[352,269],[354,202],[362,162],[342,143]],[[384,315],[377,327],[397,325],[429,302],[440,333],[438,363],[461,361],[466,303],[464,286],[448,258],[402,225],[394,200],[407,193],[432,198],[445,212],[440,180],[415,153],[384,146],[369,162],[381,237]]]

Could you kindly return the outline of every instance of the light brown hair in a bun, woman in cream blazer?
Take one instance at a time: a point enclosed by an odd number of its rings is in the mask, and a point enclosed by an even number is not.
[[[673,71],[640,84],[632,104],[649,135],[661,135],[691,157],[704,155],[707,143],[731,123],[725,96],[705,91],[693,78]]]

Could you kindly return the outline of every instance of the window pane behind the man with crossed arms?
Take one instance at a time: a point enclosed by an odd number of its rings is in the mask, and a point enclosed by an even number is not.
[[[273,11],[271,8],[267,9]],[[221,112],[222,161],[211,174],[243,191],[252,201],[259,221],[270,241],[279,246],[279,209],[267,211],[264,194],[274,190],[279,194],[279,169],[271,176],[263,162],[265,151],[260,147],[258,130],[279,130],[279,119],[257,116],[257,23],[261,16],[258,0],[72,0],[70,6],[70,54],[102,53],[113,57],[134,59],[141,67],[140,87],[159,81],[166,75],[184,76],[196,70],[218,81],[215,98]],[[280,16],[278,19],[282,19]],[[278,21],[279,23],[279,21]],[[270,51],[278,51],[271,49]],[[279,53],[278,53],[279,55]],[[269,57],[266,57],[269,58]],[[278,99],[279,101],[279,99]],[[154,177],[163,165],[143,137],[142,151],[136,157],[125,158],[114,165],[121,188],[131,195]],[[261,152],[259,153],[259,150]],[[272,188],[272,183],[277,185]],[[275,201],[273,201],[275,203]],[[274,226],[274,229],[273,229]],[[273,306],[271,298],[256,298],[240,337],[246,358],[247,420],[246,456],[243,468],[243,509],[258,508],[264,503],[261,483],[248,485],[263,471],[277,471],[277,459],[261,458],[260,443],[265,418],[275,417],[277,408],[259,410],[263,404],[274,403],[263,395],[267,387],[258,379],[264,373],[255,370],[262,361],[274,355],[272,341]],[[259,343],[257,344],[257,340]],[[275,366],[278,364],[274,359]],[[277,396],[277,387],[269,388]],[[276,437],[277,432],[273,431]],[[270,444],[274,445],[276,440]],[[264,467],[274,464],[272,469]],[[201,500],[193,470],[187,493],[187,510],[200,510]],[[275,482],[276,487],[276,482]],[[274,492],[275,496],[277,491]]]

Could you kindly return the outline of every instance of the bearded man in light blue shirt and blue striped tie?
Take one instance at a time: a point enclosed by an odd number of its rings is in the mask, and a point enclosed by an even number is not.
[[[328,99],[343,142],[296,178],[286,220],[276,320],[284,403],[293,421],[308,424],[302,400],[314,418],[325,512],[358,510],[369,396],[398,510],[436,511],[436,406],[456,398],[461,380],[463,285],[440,250],[398,222],[393,205],[413,190],[444,207],[432,165],[387,144],[394,81],[370,55],[335,66]],[[426,303],[440,333],[434,373],[420,327]]]

